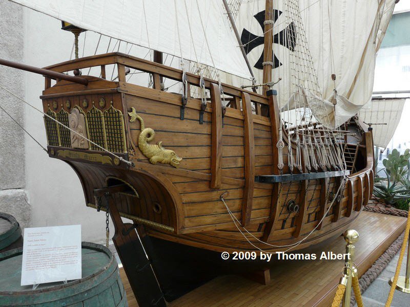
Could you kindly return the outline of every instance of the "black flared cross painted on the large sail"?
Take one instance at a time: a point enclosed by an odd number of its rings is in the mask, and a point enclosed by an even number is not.
[[[273,10],[273,16],[274,16],[274,23],[278,20],[279,16],[282,14],[282,11],[280,10]],[[264,31],[264,24],[263,21],[265,20],[265,11],[261,11],[257,14],[254,15],[255,19],[258,21],[260,27],[262,28],[262,32]],[[255,47],[258,47],[260,45],[263,45],[264,43],[264,35],[258,36],[247,29],[243,28],[242,34],[241,34],[241,42],[244,46],[246,54],[249,54]],[[295,51],[296,47],[296,30],[295,30],[295,24],[293,21],[280,31],[279,33],[276,33],[273,35],[273,43],[277,43],[279,45],[282,45],[286,48],[288,48],[290,51]],[[273,68],[278,68],[282,63],[279,61],[279,59],[276,57],[276,55],[273,55]],[[263,52],[260,55],[259,59],[256,61],[254,68],[256,69],[263,69]]]

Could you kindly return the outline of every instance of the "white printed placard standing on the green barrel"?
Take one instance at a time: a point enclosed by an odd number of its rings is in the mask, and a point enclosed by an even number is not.
[[[24,229],[21,286],[81,278],[81,225]]]

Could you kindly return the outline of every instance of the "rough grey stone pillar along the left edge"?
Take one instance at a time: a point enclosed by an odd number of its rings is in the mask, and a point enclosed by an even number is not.
[[[0,0],[0,58],[24,58],[23,7]],[[24,72],[0,65],[0,85],[24,97]],[[0,106],[24,125],[24,105],[0,89]],[[0,212],[12,214],[22,227],[31,225],[31,208],[25,191],[24,131],[0,109]]]

